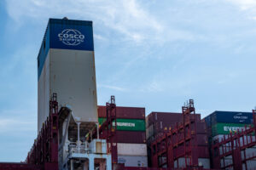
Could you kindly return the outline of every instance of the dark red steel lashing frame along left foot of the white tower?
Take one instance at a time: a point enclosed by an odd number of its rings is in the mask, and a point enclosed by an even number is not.
[[[49,101],[49,117],[26,157],[28,164],[40,165],[44,169],[58,169],[58,128],[57,94],[53,94]]]

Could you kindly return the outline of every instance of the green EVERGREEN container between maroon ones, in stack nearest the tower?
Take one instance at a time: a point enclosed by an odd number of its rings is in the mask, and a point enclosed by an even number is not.
[[[99,118],[99,123],[102,125],[106,118]],[[117,130],[124,131],[146,131],[145,121],[139,119],[116,119]],[[113,122],[114,126],[114,122]]]

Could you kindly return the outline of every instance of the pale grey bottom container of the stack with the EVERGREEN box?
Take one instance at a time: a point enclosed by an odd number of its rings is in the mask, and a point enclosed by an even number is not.
[[[148,157],[118,156],[118,163],[124,163],[125,167],[148,167]]]

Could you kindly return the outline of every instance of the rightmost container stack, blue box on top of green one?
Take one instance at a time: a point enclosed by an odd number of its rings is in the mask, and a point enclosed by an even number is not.
[[[253,127],[253,113],[252,112],[237,112],[237,111],[214,111],[211,115],[205,117],[207,123],[207,134],[209,143],[218,140],[227,139],[230,133],[236,133],[238,131],[245,130],[248,127]],[[248,138],[250,139],[250,138]],[[255,137],[253,136],[253,140]],[[242,142],[247,139],[241,139]],[[226,145],[225,150],[229,150],[230,145]],[[231,148],[230,148],[231,149]],[[223,153],[223,148],[219,148],[219,153]],[[244,153],[245,152],[245,153]],[[256,146],[248,148],[247,150],[241,150],[241,158],[256,155]],[[224,160],[221,160],[221,167],[230,165],[233,163],[232,156],[226,156]],[[256,161],[251,160],[247,162],[248,165],[256,167]]]

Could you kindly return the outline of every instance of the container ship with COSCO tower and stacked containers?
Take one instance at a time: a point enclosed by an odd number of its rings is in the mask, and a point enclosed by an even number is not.
[[[38,53],[38,137],[0,170],[256,169],[256,111],[201,118],[97,104],[92,21],[49,19]]]

